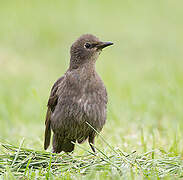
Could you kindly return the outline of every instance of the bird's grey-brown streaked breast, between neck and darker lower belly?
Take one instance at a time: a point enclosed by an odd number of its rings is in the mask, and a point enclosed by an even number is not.
[[[73,122],[89,122],[102,128],[106,120],[107,93],[100,79],[71,74],[59,89],[57,118],[65,126]],[[68,123],[66,123],[68,122]],[[72,123],[71,123],[72,124]]]

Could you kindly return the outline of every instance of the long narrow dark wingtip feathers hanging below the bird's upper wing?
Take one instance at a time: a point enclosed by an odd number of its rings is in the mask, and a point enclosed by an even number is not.
[[[46,121],[45,121],[45,139],[44,139],[44,149],[46,150],[48,146],[50,145],[50,138],[51,138],[51,126],[50,126],[50,116],[51,116],[51,110],[48,108],[47,114],[46,114]]]

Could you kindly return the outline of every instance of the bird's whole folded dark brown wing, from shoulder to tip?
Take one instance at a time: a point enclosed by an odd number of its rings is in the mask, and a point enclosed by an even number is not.
[[[55,106],[57,105],[57,100],[58,100],[58,96],[57,96],[57,90],[59,87],[59,84],[63,81],[64,76],[62,76],[61,78],[59,78],[53,85],[52,89],[51,89],[51,93],[50,93],[50,97],[48,99],[48,109],[47,109],[47,113],[46,113],[46,121],[45,121],[45,140],[44,140],[44,149],[46,150],[48,148],[48,146],[50,145],[50,138],[51,138],[51,126],[50,126],[50,117],[52,112],[55,109]]]

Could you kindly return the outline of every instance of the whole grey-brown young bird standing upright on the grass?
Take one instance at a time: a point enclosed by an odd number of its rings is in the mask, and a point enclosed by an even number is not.
[[[84,34],[72,44],[68,70],[54,83],[48,99],[45,150],[53,131],[53,153],[73,152],[76,142],[86,140],[96,152],[94,140],[106,122],[108,98],[95,63],[110,45],[113,43],[100,41],[92,34]]]

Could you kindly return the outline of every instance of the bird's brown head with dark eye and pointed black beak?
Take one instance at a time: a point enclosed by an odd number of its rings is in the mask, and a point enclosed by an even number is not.
[[[102,42],[91,34],[79,37],[71,46],[70,65],[78,67],[84,63],[95,63],[103,48],[113,45],[112,42]]]

